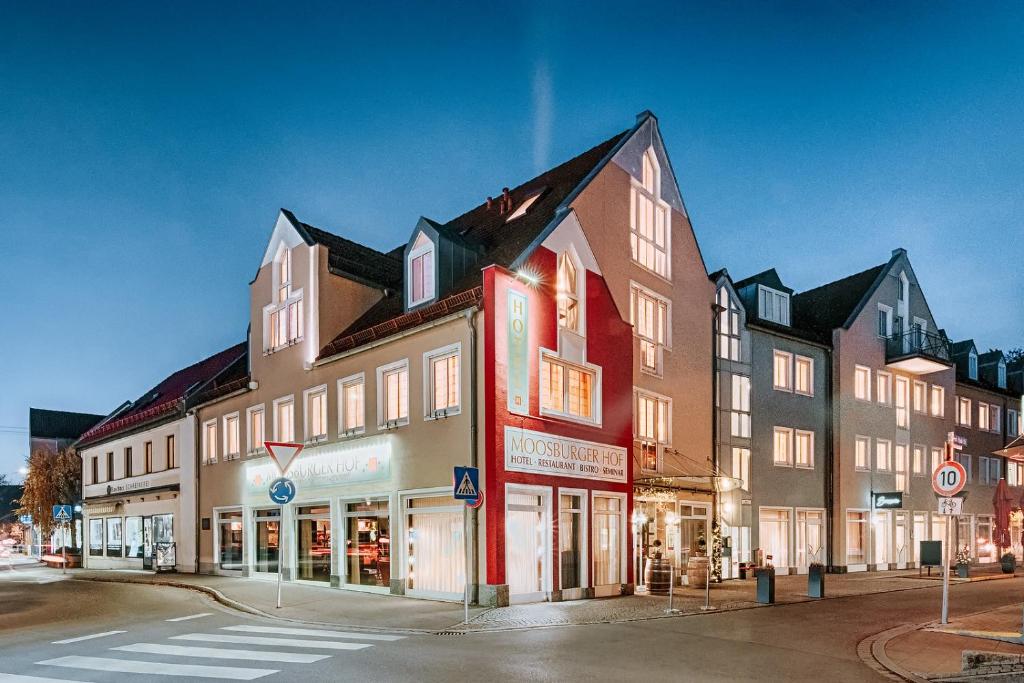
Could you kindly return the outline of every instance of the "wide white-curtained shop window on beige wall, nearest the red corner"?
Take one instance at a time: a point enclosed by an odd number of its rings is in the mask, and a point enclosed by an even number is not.
[[[454,596],[466,587],[463,505],[450,497],[407,502],[408,588]]]

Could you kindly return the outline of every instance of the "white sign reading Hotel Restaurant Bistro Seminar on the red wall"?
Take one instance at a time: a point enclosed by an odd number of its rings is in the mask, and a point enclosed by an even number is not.
[[[626,449],[505,427],[505,469],[626,482]]]

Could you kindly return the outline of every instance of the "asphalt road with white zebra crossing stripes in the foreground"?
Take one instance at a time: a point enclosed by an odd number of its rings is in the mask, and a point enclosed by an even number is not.
[[[458,636],[325,633],[190,591],[54,578],[0,572],[0,683],[878,681],[857,643],[933,620],[939,607],[938,589],[929,588],[628,624]],[[957,586],[953,614],[1020,601],[1022,588],[1022,579]]]

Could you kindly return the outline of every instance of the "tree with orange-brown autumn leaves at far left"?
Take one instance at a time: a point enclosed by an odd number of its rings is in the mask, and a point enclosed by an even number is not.
[[[32,515],[42,538],[49,538],[56,524],[53,506],[74,503],[82,497],[82,459],[74,449],[38,450],[29,456],[20,514]]]

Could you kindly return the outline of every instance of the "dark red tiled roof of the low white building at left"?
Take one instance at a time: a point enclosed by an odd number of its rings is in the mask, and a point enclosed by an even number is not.
[[[245,356],[248,347],[248,342],[236,344],[167,376],[160,384],[132,401],[115,419],[85,432],[77,445],[105,440],[178,411],[184,404],[185,397],[201,391],[210,380],[236,362],[239,357]]]

